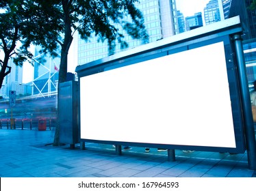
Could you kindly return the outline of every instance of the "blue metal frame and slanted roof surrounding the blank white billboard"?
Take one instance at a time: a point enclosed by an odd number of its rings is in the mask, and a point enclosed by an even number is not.
[[[86,63],[85,65],[79,65],[76,68],[76,72],[79,77],[79,88],[80,78],[84,76],[89,76],[91,74],[97,74],[99,72],[105,72],[107,70],[114,70],[126,65],[140,63],[141,61],[148,61],[151,59],[156,59],[159,57],[164,57],[166,55],[172,55],[175,53],[181,53],[185,50],[192,50],[193,48],[199,48],[201,46],[206,46],[208,44],[214,44],[216,42],[223,42],[225,45],[225,58],[227,65],[227,73],[229,78],[229,91],[232,104],[232,114],[233,123],[235,131],[235,143],[237,147],[227,148],[227,147],[202,147],[202,146],[192,146],[192,145],[159,145],[151,143],[127,143],[123,141],[102,141],[102,140],[90,140],[81,138],[81,143],[93,142],[93,143],[106,143],[114,145],[131,145],[138,147],[161,147],[166,149],[192,149],[200,151],[219,151],[219,152],[230,152],[230,153],[244,153],[245,149],[248,148],[248,141],[244,136],[244,130],[246,131],[246,124],[244,124],[244,110],[242,91],[241,91],[241,81],[239,75],[238,58],[234,55],[238,52],[235,48],[235,42],[233,41],[234,35],[242,34],[242,24],[240,23],[239,16],[234,18],[229,18],[219,23],[214,23],[212,25],[207,25],[206,27],[201,27],[199,29],[194,29],[192,31],[181,33],[179,35],[172,36],[171,38],[166,38],[140,46],[138,48],[133,48],[110,57],[105,57],[97,61],[92,61]],[[241,51],[241,50],[239,50]],[[244,74],[243,74],[244,75]],[[79,89],[80,90],[80,89]],[[246,98],[248,99],[248,98]],[[80,113],[80,91],[79,91],[79,128],[81,132],[81,113]],[[247,100],[248,101],[248,100]],[[246,102],[247,102],[246,101]],[[250,121],[251,119],[248,119]],[[249,127],[251,128],[251,127]],[[247,130],[248,132],[248,130]],[[246,144],[245,144],[246,142]],[[252,141],[249,141],[250,143]],[[254,140],[255,142],[255,140]],[[255,144],[255,143],[253,143]],[[120,153],[120,147],[118,147],[118,153]]]

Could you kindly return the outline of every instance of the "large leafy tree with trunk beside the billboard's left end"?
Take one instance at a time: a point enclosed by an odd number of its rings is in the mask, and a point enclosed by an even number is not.
[[[61,47],[59,85],[66,80],[68,50],[75,31],[78,31],[84,40],[88,40],[92,35],[98,36],[101,41],[107,40],[110,54],[114,53],[116,41],[121,47],[127,47],[124,34],[120,33],[118,26],[125,29],[133,38],[142,39],[144,43],[148,41],[142,13],[134,5],[136,2],[138,0],[34,1],[34,10],[47,17],[47,22],[55,23],[51,29],[38,25],[38,33],[45,34],[44,39],[38,39],[36,35],[31,38],[34,38],[36,44],[41,44],[46,52],[53,53],[57,46]],[[59,131],[60,126],[57,123],[53,145],[60,144]]]

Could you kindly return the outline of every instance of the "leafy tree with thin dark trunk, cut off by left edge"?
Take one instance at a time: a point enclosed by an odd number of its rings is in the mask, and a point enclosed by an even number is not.
[[[33,55],[27,49],[16,48],[16,42],[25,38],[24,25],[27,23],[25,15],[25,1],[5,0],[0,3],[0,50],[3,50],[4,58],[0,59],[0,89],[2,87],[3,79],[10,74],[12,68],[8,66],[10,57],[14,57],[16,65],[23,65],[27,59],[31,59]]]

